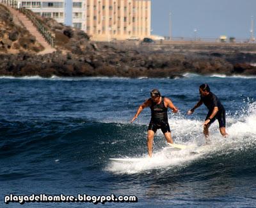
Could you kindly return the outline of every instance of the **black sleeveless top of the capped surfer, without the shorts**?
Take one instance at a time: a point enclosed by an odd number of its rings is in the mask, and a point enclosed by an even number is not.
[[[156,102],[153,102],[151,99],[151,120],[150,122],[154,123],[163,123],[168,122],[168,115],[167,115],[167,108],[164,106],[164,97],[162,97],[162,100],[160,104],[156,104]]]

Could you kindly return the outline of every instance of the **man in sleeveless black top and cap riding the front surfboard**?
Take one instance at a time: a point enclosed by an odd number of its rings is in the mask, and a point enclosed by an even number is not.
[[[177,113],[178,109],[173,105],[170,99],[161,96],[159,90],[154,89],[150,92],[150,99],[147,99],[140,105],[137,113],[132,118],[131,123],[134,122],[134,120],[138,118],[138,115],[140,115],[141,111],[147,107],[150,107],[151,109],[151,120],[148,125],[147,146],[148,156],[152,157],[154,134],[156,134],[157,129],[161,129],[168,143],[173,143],[170,126],[168,124],[167,109],[172,109],[173,113]]]

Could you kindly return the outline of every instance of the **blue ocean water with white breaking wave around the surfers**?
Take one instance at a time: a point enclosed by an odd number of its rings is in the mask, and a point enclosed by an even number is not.
[[[94,207],[92,203],[4,204],[6,195],[136,195],[138,202],[106,207],[255,207],[256,77],[182,79],[1,77],[0,207]],[[218,122],[204,145],[205,106],[186,111],[208,83],[227,112],[228,138]],[[147,157],[150,109],[131,119],[158,88],[179,113],[169,111],[175,143],[166,151],[161,131],[147,162],[120,164],[110,157]],[[100,203],[97,205],[99,206]]]

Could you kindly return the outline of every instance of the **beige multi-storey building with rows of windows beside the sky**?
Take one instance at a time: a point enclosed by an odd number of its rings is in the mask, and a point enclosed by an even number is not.
[[[150,0],[87,0],[86,33],[93,40],[150,36]]]

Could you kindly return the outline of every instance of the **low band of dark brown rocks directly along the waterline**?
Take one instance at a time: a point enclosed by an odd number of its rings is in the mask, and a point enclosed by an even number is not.
[[[141,54],[138,51],[105,50],[77,55],[60,51],[44,56],[0,54],[0,74],[5,76],[121,76],[182,77],[186,72],[198,74],[256,75],[256,67],[232,63],[222,58],[188,54]]]

